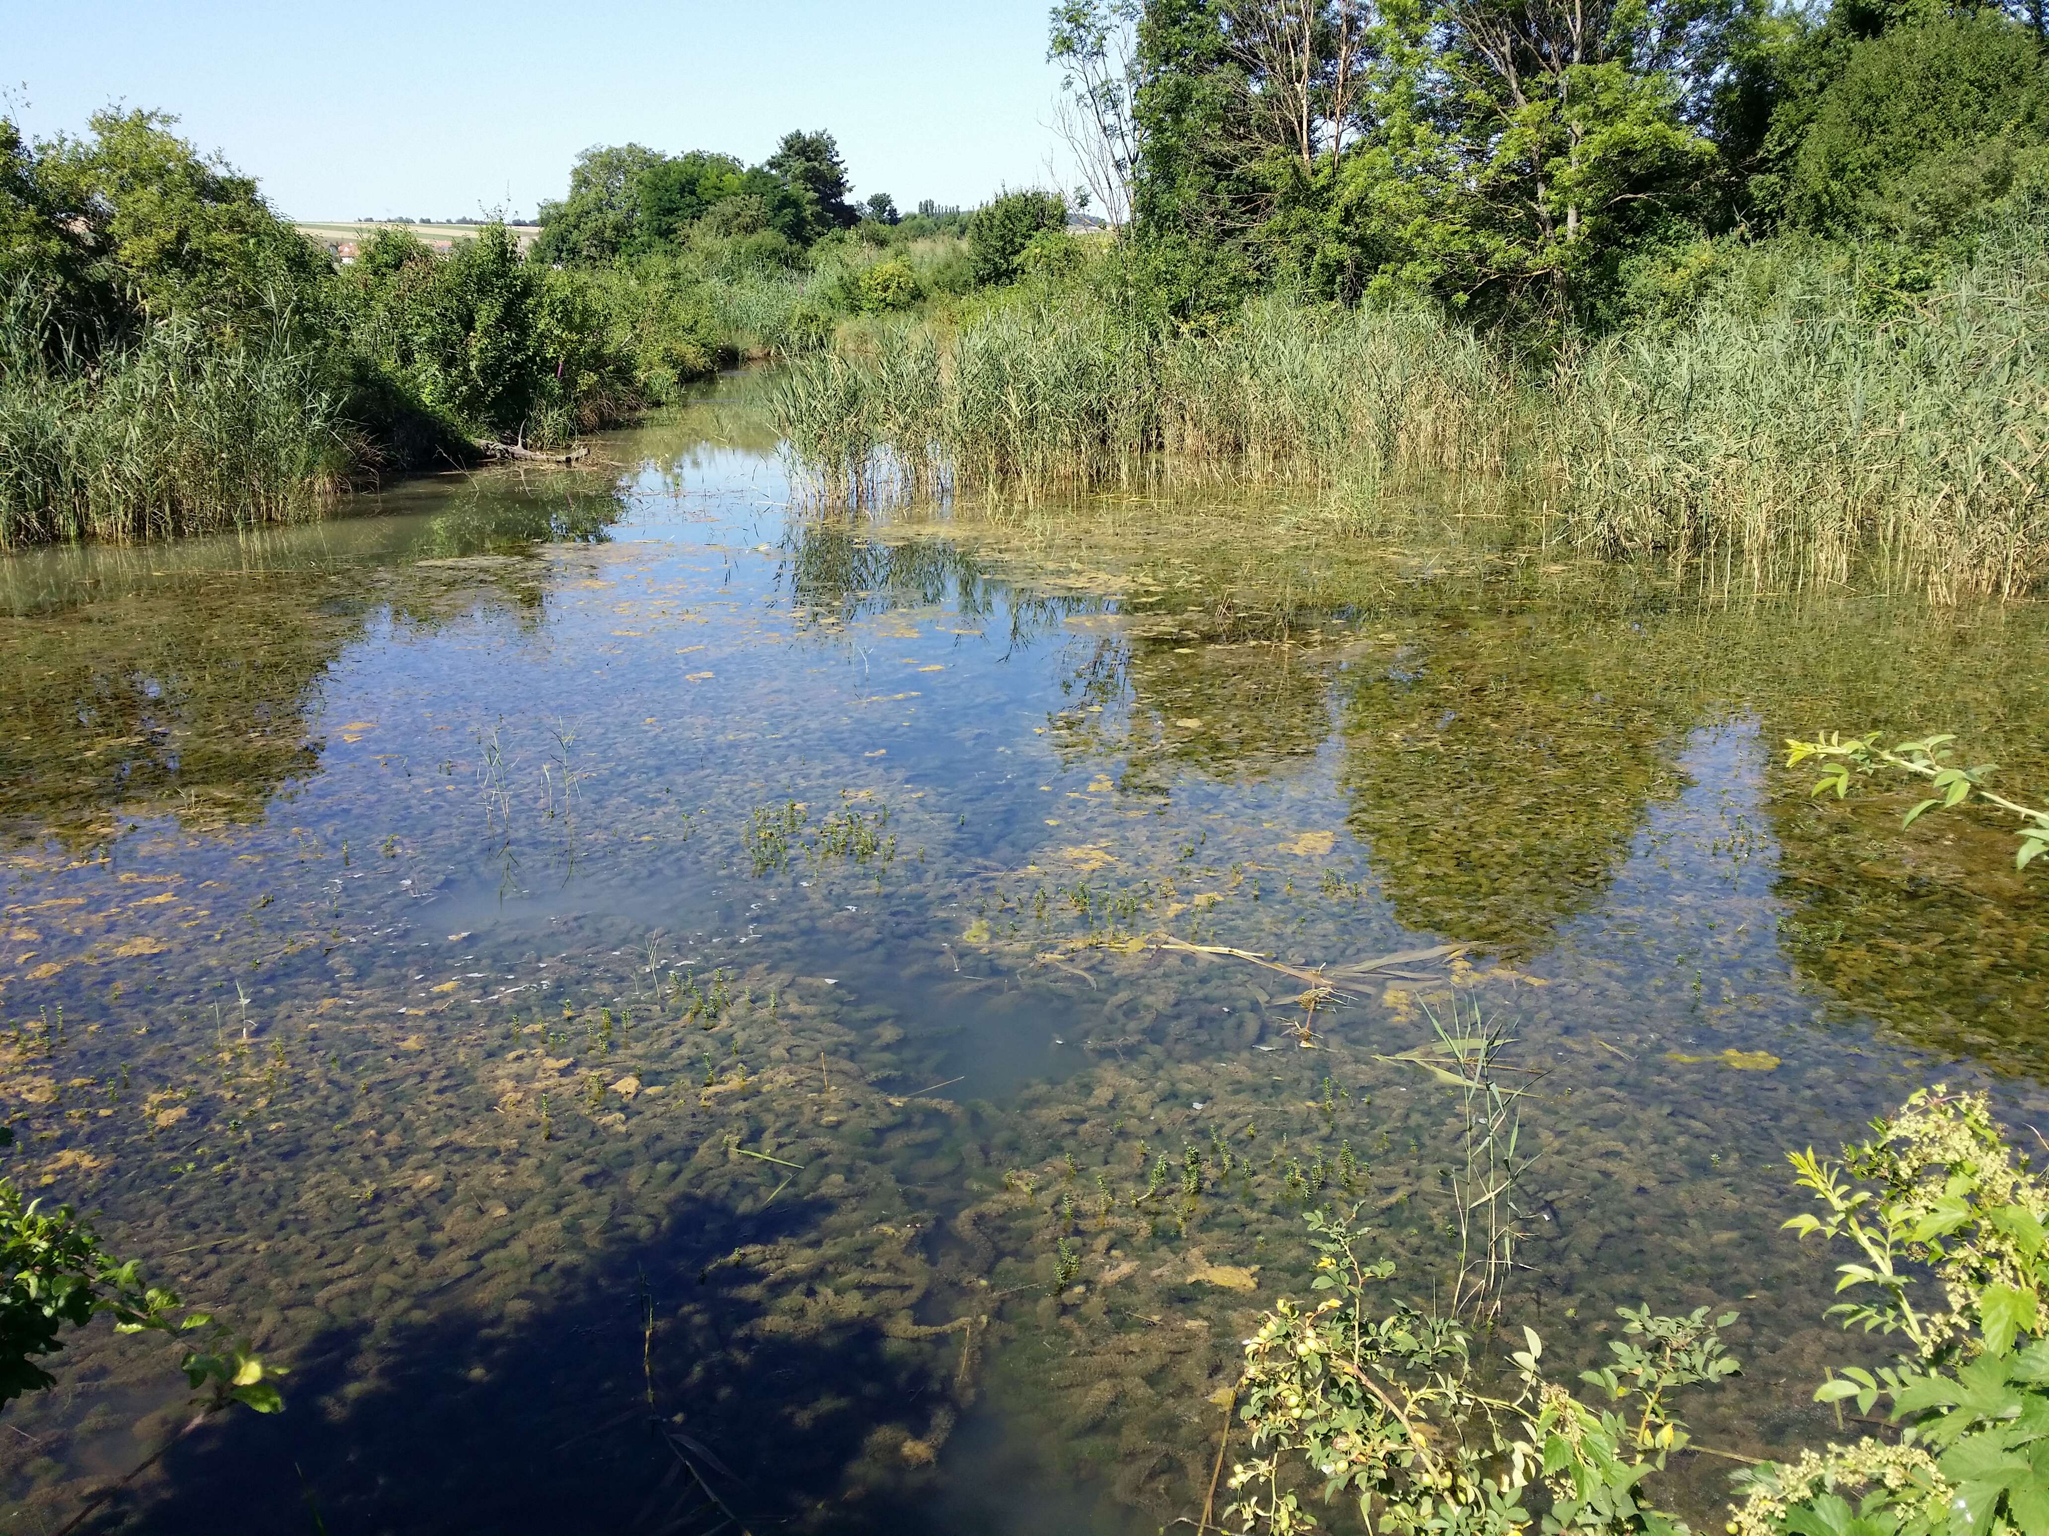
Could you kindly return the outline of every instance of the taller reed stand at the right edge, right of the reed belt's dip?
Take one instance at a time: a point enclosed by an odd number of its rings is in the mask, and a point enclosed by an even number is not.
[[[1705,557],[1756,586],[1877,563],[1938,600],[2049,575],[2043,264],[1981,258],[1922,305],[1858,313],[1850,270],[1764,311],[1711,307],[1559,373],[1545,457],[1574,537]]]

